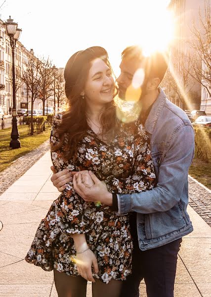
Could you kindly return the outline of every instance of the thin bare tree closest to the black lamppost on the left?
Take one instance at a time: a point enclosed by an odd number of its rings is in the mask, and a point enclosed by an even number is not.
[[[29,92],[31,93],[31,135],[34,134],[34,126],[33,126],[33,105],[36,98],[38,98],[40,92],[40,84],[41,84],[41,61],[36,57],[29,58],[23,66],[23,70],[21,73],[21,79],[23,83],[26,84]]]

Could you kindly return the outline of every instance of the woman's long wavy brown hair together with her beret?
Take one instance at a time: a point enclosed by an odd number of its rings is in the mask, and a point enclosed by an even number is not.
[[[64,155],[67,159],[75,155],[78,143],[83,139],[88,129],[85,112],[86,103],[81,94],[84,90],[91,62],[96,58],[101,58],[111,68],[107,51],[101,47],[91,47],[74,53],[68,60],[64,70],[68,110],[63,114],[61,123],[56,129],[60,143],[53,146],[51,150],[56,151],[61,148],[67,138]],[[113,97],[115,97],[116,91],[115,88]],[[107,140],[111,140],[118,129],[114,101],[107,103],[106,109],[101,115],[101,124],[102,134],[106,135]]]

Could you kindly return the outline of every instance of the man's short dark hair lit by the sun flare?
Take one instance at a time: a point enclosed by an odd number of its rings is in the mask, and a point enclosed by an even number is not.
[[[122,59],[137,58],[143,62],[145,78],[158,77],[162,82],[169,65],[169,53],[155,51],[149,56],[144,56],[143,50],[139,46],[130,46],[123,50]]]

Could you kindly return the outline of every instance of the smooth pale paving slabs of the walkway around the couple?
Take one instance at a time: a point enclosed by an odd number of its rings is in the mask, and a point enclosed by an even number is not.
[[[24,260],[41,219],[60,194],[50,181],[50,164],[48,151],[0,195],[0,297],[58,297],[52,271]],[[194,232],[183,238],[174,296],[210,297],[211,228],[190,206],[188,213]],[[88,283],[86,297],[91,296]],[[144,282],[140,296],[146,297]]]

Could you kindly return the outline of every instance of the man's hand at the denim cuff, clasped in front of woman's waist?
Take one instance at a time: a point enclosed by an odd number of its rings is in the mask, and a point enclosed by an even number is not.
[[[74,190],[86,201],[86,202],[100,202],[105,205],[112,205],[112,194],[108,192],[105,183],[98,180],[93,172],[88,171],[89,176],[93,181],[91,187],[87,187],[88,176],[82,176],[80,172],[73,176]],[[84,180],[84,183],[83,183]]]

